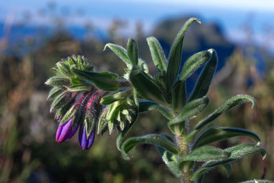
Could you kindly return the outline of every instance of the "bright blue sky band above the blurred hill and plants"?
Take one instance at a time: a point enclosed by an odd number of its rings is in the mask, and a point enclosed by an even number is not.
[[[0,0],[0,21],[5,21],[8,15],[10,19],[20,21],[23,12],[29,11],[35,15],[30,19],[30,24],[50,25],[51,19],[37,16],[38,10],[47,7],[49,2],[53,1]],[[68,23],[71,25],[83,25],[86,21],[91,21],[96,27],[106,29],[114,18],[126,20],[129,27],[125,34],[132,33],[133,25],[137,21],[142,22],[145,31],[149,32],[162,19],[189,14],[201,18],[203,23],[221,23],[225,35],[238,42],[245,38],[242,23],[251,26],[254,39],[260,43],[269,37],[264,32],[264,27],[274,29],[273,0],[58,0],[55,4],[60,12],[84,12],[83,16],[68,16]],[[273,42],[274,38],[272,45],[270,44],[274,50]]]

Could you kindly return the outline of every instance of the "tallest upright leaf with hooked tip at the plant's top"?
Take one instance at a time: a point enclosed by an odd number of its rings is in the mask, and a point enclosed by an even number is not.
[[[186,30],[190,26],[190,24],[194,21],[198,21],[196,18],[189,19],[182,29],[177,34],[173,45],[171,46],[171,51],[169,53],[169,64],[167,66],[167,79],[168,79],[168,88],[171,88],[173,83],[175,82],[179,67],[181,65],[181,57],[182,57],[182,47],[183,47],[183,41],[184,41],[184,35],[186,34]],[[200,22],[199,22],[200,23]]]

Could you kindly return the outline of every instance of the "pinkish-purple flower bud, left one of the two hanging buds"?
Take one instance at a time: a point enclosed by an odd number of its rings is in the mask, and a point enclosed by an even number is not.
[[[69,121],[66,121],[64,124],[60,125],[58,127],[58,130],[56,132],[55,141],[58,143],[62,143],[64,141],[69,140],[73,135],[77,132],[79,124],[75,126],[73,129],[71,127],[73,123],[73,119],[69,119]]]

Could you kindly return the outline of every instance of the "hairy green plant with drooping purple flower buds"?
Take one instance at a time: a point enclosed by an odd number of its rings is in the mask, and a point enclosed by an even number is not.
[[[78,132],[79,145],[90,149],[96,134],[114,130],[118,132],[116,147],[125,160],[132,158],[127,153],[140,143],[154,145],[163,162],[183,182],[203,182],[208,171],[223,166],[227,175],[232,172],[231,162],[249,154],[266,151],[260,147],[258,135],[235,127],[208,127],[219,115],[242,103],[256,100],[249,95],[236,95],[222,106],[189,128],[206,106],[206,96],[217,64],[214,49],[201,51],[182,62],[182,45],[186,30],[198,19],[189,19],[177,34],[169,57],[166,58],[158,40],[147,38],[151,57],[158,73],[151,75],[147,64],[139,58],[135,40],[129,38],[127,49],[108,43],[110,49],[126,64],[125,74],[119,76],[109,71],[95,72],[84,56],[71,56],[57,62],[55,75],[45,84],[52,86],[49,97],[51,112],[59,123],[55,141],[63,143]],[[203,66],[204,65],[204,66]],[[203,66],[199,78],[189,96],[186,95],[186,79]],[[123,137],[136,122],[139,114],[158,110],[169,121],[169,134],[147,134]],[[236,136],[249,136],[256,143],[241,143],[220,149],[210,145]],[[202,163],[201,163],[202,162]],[[265,182],[266,180],[256,180]],[[268,182],[268,181],[266,181]]]

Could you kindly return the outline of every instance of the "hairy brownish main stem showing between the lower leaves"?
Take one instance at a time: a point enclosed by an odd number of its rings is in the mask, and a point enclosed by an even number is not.
[[[176,141],[177,141],[177,145],[180,149],[180,154],[179,154],[179,158],[182,158],[184,156],[186,156],[189,153],[189,145],[188,143],[184,143],[184,138],[185,135],[184,134],[180,134],[176,136]],[[192,181],[190,180],[192,177],[192,171],[191,171],[191,166],[189,166],[190,164],[186,164],[186,167],[183,167],[182,169],[182,181],[184,183],[191,183]]]

